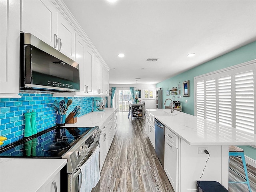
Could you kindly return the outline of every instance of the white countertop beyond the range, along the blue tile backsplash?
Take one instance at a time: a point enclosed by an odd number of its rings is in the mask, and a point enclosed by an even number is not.
[[[66,123],[64,127],[100,127],[115,110],[115,108],[105,108],[104,112],[90,112],[78,117],[76,123]]]

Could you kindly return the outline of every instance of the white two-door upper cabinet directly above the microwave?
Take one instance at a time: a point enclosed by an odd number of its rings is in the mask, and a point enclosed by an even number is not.
[[[51,1],[22,0],[20,30],[75,59],[75,30]]]

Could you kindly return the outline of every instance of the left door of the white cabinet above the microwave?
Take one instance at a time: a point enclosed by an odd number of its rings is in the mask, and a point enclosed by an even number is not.
[[[57,10],[51,1],[22,0],[20,31],[57,48]]]

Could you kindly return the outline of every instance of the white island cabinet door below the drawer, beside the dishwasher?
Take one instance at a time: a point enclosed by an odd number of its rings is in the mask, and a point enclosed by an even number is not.
[[[165,136],[164,171],[175,192],[178,191],[178,149]]]

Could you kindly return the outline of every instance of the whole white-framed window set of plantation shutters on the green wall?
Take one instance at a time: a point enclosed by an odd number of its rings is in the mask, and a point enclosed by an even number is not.
[[[256,133],[256,60],[194,78],[194,114]]]

